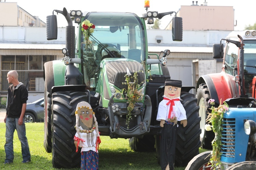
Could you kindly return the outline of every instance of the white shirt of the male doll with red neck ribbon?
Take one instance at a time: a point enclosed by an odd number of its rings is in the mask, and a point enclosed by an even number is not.
[[[181,99],[181,98],[177,97],[175,99]],[[162,100],[159,103],[157,117],[156,117],[157,121],[168,119],[168,114],[169,114],[169,110],[170,110],[170,106],[171,106],[170,104],[166,105],[168,102],[169,102],[169,100]],[[175,105],[172,106],[171,117],[174,114],[174,116],[177,117],[178,121],[186,120],[187,119],[186,111],[185,111],[183,105],[181,104],[181,101],[174,101],[174,104]]]

